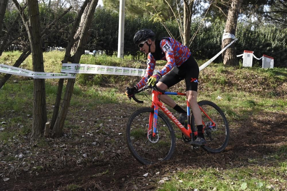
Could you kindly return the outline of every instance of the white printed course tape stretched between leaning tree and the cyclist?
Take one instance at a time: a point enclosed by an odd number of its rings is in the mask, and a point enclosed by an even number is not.
[[[146,69],[92,64],[63,63],[61,72],[144,76],[146,73]],[[157,72],[158,70],[154,70],[154,74],[156,74]]]

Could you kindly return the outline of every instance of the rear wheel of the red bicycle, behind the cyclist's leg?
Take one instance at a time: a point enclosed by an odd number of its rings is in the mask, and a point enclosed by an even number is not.
[[[202,148],[210,153],[222,152],[229,141],[229,126],[224,113],[216,104],[210,101],[200,101],[198,105],[205,112],[201,111],[201,116],[207,144]],[[215,126],[212,126],[212,121]],[[191,124],[197,130],[194,116],[191,118]]]

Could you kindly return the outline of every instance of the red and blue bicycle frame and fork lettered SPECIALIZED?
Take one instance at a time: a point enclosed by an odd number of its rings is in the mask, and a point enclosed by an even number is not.
[[[185,135],[186,138],[190,139],[191,135],[193,133],[193,136],[197,136],[197,132],[192,132],[191,131],[191,124],[190,124],[190,111],[189,111],[189,102],[187,102],[187,129],[177,120],[177,118],[174,117],[174,115],[164,106],[162,102],[158,100],[158,95],[185,95],[185,93],[177,93],[177,92],[169,92],[165,91],[164,93],[152,90],[152,106],[151,108],[154,109],[154,114],[150,113],[150,118],[149,118],[149,125],[148,125],[148,132],[153,128],[153,134],[152,136],[156,136],[156,125],[157,125],[157,119],[158,119],[158,109],[160,108],[170,120],[181,130],[181,132]],[[203,111],[203,109],[199,106],[200,110],[204,113],[204,115],[212,122],[211,126],[216,126],[214,121]],[[204,129],[206,128],[204,122],[202,121],[203,124],[203,132]]]

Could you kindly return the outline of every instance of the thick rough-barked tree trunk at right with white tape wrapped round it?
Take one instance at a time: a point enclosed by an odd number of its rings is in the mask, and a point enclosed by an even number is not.
[[[227,20],[226,20],[224,31],[225,33],[231,33],[235,35],[237,19],[238,19],[238,14],[239,14],[240,7],[242,4],[242,0],[231,0],[230,2],[231,2],[231,6],[228,9],[228,15],[227,15]],[[224,39],[222,42],[221,48],[223,49],[224,47],[226,47],[226,45],[228,45],[232,41],[233,39],[231,38]],[[235,55],[234,43],[222,53],[222,58],[223,58],[224,65],[233,65],[233,66],[238,65],[238,60]]]

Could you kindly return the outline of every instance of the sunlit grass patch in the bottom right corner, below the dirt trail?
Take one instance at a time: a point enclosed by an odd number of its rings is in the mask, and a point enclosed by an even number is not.
[[[287,181],[282,178],[286,164],[278,167],[252,166],[220,170],[218,168],[199,168],[180,172],[172,180],[164,183],[159,190],[269,190],[279,188]],[[283,166],[283,167],[282,167]],[[267,178],[268,177],[268,178]],[[274,183],[277,180],[277,183]],[[272,185],[272,186],[271,186]]]

